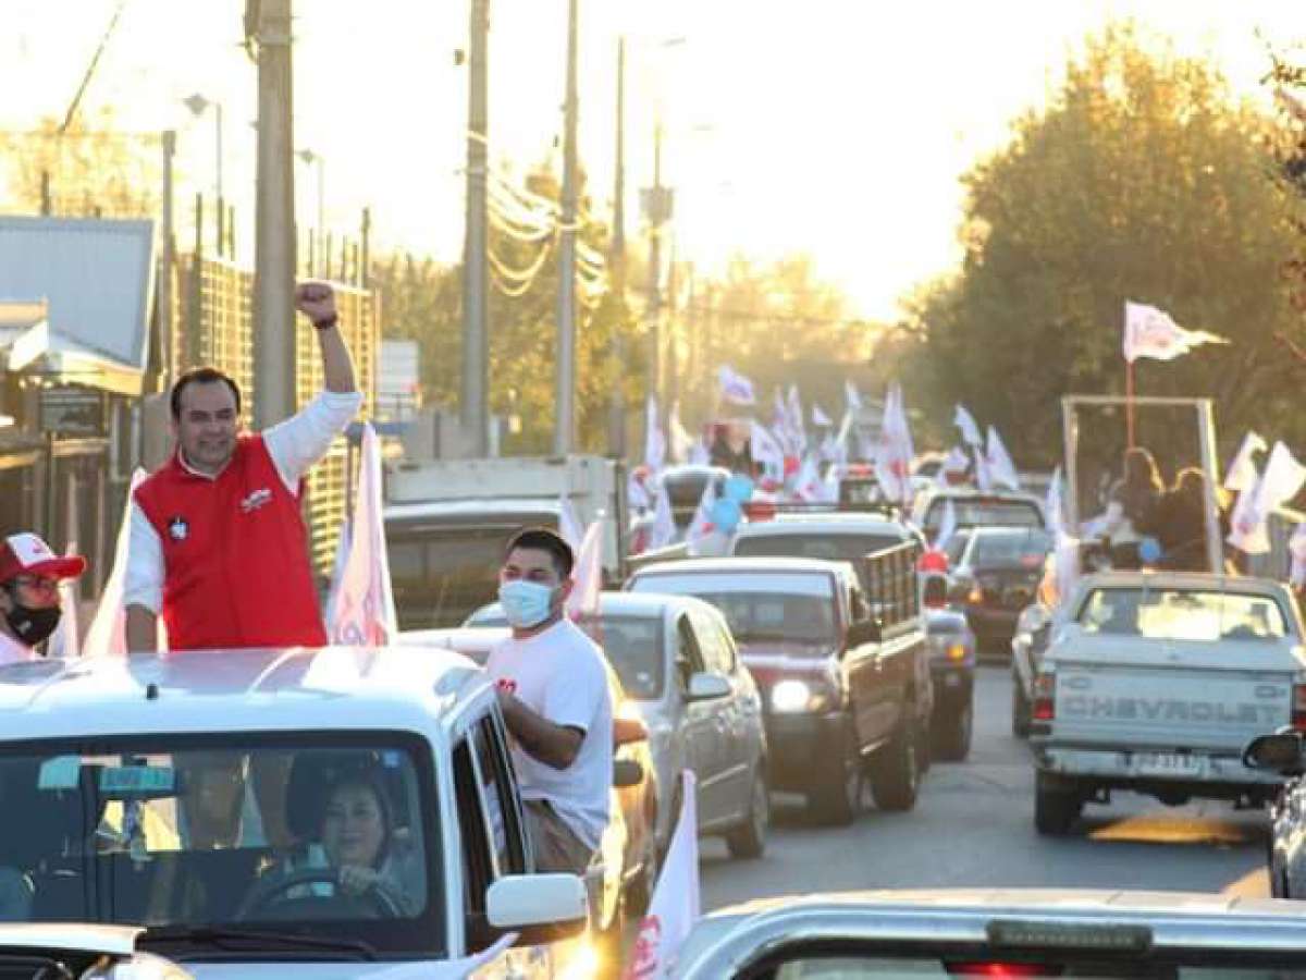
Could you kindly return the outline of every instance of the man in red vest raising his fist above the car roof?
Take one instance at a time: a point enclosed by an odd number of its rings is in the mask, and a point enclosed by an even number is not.
[[[133,497],[124,584],[127,647],[324,645],[299,498],[304,473],[363,402],[336,328],[336,297],[304,282],[295,306],[313,324],[325,391],[260,434],[239,433],[240,389],[212,367],[172,385],[172,459]]]

